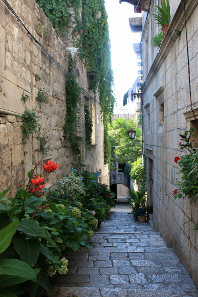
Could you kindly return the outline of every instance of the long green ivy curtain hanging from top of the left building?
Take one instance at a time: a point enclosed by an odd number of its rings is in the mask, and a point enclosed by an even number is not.
[[[99,93],[101,116],[104,123],[104,163],[107,164],[111,158],[108,122],[111,122],[115,98],[113,95],[110,39],[104,0],[82,0],[82,2],[80,0],[70,0],[69,2],[65,0],[36,0],[36,2],[51,21],[57,34],[64,34],[65,28],[67,30],[71,26],[72,14],[70,9],[74,9],[76,26],[72,32],[73,37],[76,31],[80,33],[79,41],[75,46],[79,48],[80,57],[85,62],[87,70],[95,72],[95,75],[91,77],[89,89],[93,90],[95,95],[97,91]],[[79,21],[81,6],[82,22]],[[72,82],[68,82],[67,88],[69,88],[69,84],[72,85]],[[71,123],[74,123],[74,121]],[[79,137],[74,136],[74,139],[71,140],[72,147],[76,147],[75,152],[78,151]]]

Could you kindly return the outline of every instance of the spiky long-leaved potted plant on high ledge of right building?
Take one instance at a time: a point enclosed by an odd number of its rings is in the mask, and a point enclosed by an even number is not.
[[[169,0],[161,0],[161,7],[156,5],[156,14],[153,14],[157,24],[162,26],[163,37],[165,36],[170,25],[170,4]]]

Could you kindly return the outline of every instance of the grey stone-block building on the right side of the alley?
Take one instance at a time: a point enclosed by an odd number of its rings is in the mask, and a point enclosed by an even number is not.
[[[136,5],[135,0],[129,1]],[[198,233],[193,229],[198,220],[198,206],[190,199],[174,199],[179,176],[175,156],[180,136],[190,127],[198,128],[197,41],[198,2],[170,0],[171,22],[160,47],[151,47],[151,39],[160,27],[152,17],[159,2],[152,0],[143,8],[141,55],[143,62],[144,151],[147,156],[148,202],[154,206],[154,228],[167,245],[175,250],[192,280],[198,285]],[[185,15],[186,14],[186,15]],[[185,30],[187,28],[187,41]],[[130,20],[131,23],[131,20]],[[132,22],[141,27],[138,20]],[[137,32],[137,31],[134,31]],[[187,46],[191,80],[190,103]],[[193,116],[192,113],[195,115]],[[186,224],[184,224],[186,222]]]

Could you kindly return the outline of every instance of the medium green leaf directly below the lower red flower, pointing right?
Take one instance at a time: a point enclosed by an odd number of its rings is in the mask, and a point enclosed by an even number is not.
[[[19,222],[17,230],[24,232],[27,235],[36,237],[46,237],[42,227],[40,227],[33,219],[24,219]]]

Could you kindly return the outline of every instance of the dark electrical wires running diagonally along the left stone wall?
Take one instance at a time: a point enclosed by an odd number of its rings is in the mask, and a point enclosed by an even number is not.
[[[72,78],[70,76],[70,74],[68,73],[68,71],[66,71],[51,55],[50,53],[42,46],[42,44],[40,44],[40,42],[31,34],[31,32],[27,29],[27,27],[24,25],[24,23],[21,21],[21,19],[18,17],[18,15],[15,13],[15,11],[13,10],[13,8],[10,6],[10,4],[7,2],[7,0],[2,0],[5,5],[10,9],[10,11],[14,14],[14,16],[17,18],[17,20],[21,23],[21,25],[25,28],[25,30],[28,32],[28,35],[30,35],[33,40],[44,50],[44,52],[49,56],[49,58],[60,68],[60,70],[68,77],[68,78]],[[91,98],[93,98],[96,102],[98,102],[96,100],[96,98],[94,98],[93,96],[91,96],[85,89],[82,89],[82,92],[85,91]],[[98,102],[100,104],[100,102]]]

